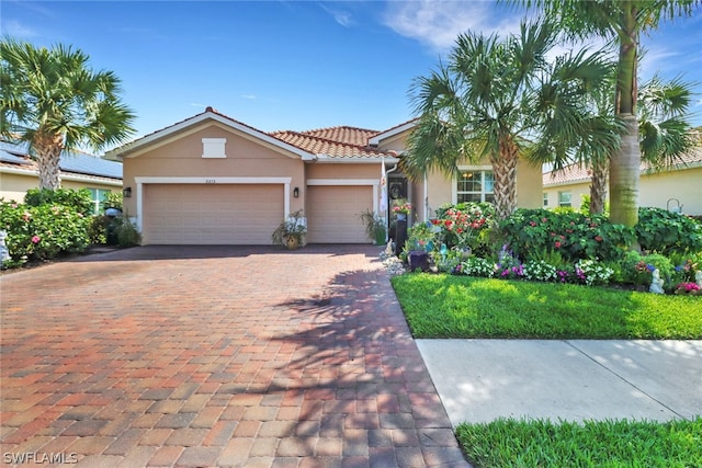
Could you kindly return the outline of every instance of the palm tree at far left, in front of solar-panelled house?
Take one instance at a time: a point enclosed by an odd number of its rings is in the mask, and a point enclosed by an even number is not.
[[[0,42],[0,135],[29,144],[41,189],[60,186],[61,151],[81,145],[100,151],[134,133],[134,114],[118,96],[120,79],[93,71],[88,60],[64,45]]]

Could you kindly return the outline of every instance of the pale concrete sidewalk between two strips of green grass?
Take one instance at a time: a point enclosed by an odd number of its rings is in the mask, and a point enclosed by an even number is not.
[[[702,414],[702,340],[417,340],[451,423]]]

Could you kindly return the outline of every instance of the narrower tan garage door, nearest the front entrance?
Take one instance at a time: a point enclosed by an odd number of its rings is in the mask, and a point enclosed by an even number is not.
[[[373,210],[369,185],[307,186],[307,242],[370,243],[361,214]]]

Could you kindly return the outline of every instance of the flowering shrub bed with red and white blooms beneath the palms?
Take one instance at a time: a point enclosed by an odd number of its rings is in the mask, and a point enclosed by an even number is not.
[[[627,250],[634,242],[644,253]],[[647,289],[658,270],[667,292],[697,294],[702,225],[659,208],[641,208],[634,228],[602,215],[547,209],[518,209],[496,222],[489,205],[465,203],[445,205],[412,227],[405,254],[411,250],[430,252],[443,272],[506,279]]]

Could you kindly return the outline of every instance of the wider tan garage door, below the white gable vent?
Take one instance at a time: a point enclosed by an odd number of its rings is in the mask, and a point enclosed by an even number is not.
[[[150,184],[144,243],[270,244],[283,220],[283,185]]]

